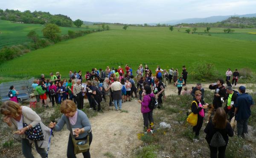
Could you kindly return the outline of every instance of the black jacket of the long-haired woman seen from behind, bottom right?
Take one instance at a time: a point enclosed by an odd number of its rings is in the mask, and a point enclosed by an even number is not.
[[[233,132],[233,129],[232,129],[230,123],[227,123],[225,129],[217,129],[212,124],[212,121],[209,121],[208,124],[206,125],[205,129],[204,129],[204,132],[206,133],[205,139],[206,139],[208,144],[211,143],[212,136],[217,131],[221,133],[222,137],[226,141],[226,144],[228,143],[228,139],[229,139],[228,136],[233,137],[233,135],[234,135],[234,132]]]

